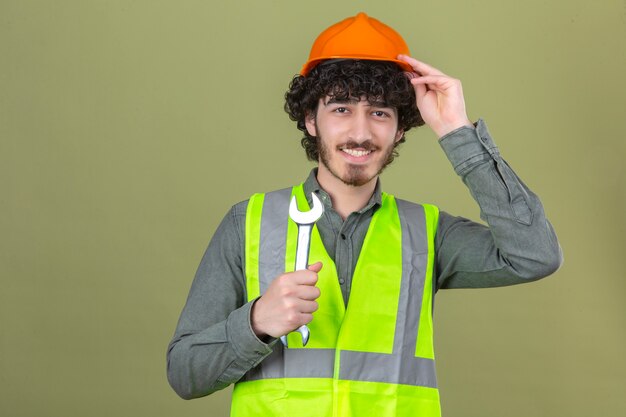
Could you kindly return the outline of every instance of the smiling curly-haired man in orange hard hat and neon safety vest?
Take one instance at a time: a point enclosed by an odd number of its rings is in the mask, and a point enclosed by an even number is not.
[[[234,416],[438,416],[435,292],[528,282],[560,266],[539,199],[484,121],[469,121],[460,81],[408,55],[400,35],[363,13],[316,40],[285,109],[318,167],[300,186],[235,205],[215,232],[168,349],[181,397],[236,383]],[[382,192],[379,174],[423,124],[488,227]],[[305,211],[312,195],[324,214],[311,265],[293,272],[289,201]],[[308,343],[293,333],[304,325]]]

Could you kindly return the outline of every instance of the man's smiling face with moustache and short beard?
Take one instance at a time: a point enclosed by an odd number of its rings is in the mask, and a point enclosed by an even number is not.
[[[318,175],[350,186],[375,181],[393,159],[398,130],[396,109],[361,100],[319,100],[317,112],[306,118],[306,128],[317,137]]]

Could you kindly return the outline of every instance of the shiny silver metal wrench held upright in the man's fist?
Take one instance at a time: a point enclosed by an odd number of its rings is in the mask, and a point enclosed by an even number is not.
[[[296,246],[296,271],[302,271],[307,268],[309,262],[309,246],[311,245],[311,231],[315,222],[322,217],[324,213],[324,205],[315,194],[311,194],[313,207],[309,211],[298,210],[296,196],[291,197],[289,204],[289,217],[298,225],[298,245]],[[309,327],[304,324],[298,327],[298,333],[302,335],[302,345],[306,346],[309,341]],[[287,335],[281,336],[280,341],[285,347],[287,344]]]

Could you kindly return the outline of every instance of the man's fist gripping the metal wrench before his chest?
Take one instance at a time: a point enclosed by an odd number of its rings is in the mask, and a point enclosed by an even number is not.
[[[284,336],[313,320],[320,289],[315,286],[322,263],[303,271],[287,272],[270,284],[252,306],[252,330],[259,338]]]

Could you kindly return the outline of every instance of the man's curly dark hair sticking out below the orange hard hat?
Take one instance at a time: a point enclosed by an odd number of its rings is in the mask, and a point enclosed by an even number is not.
[[[415,103],[415,90],[403,70],[392,62],[340,59],[326,61],[316,66],[306,76],[296,75],[285,93],[285,111],[304,132],[301,140],[307,158],[318,161],[317,138],[306,129],[307,114],[316,114],[322,97],[337,100],[360,100],[369,103],[383,102],[398,112],[398,129],[407,132],[412,127],[424,125]],[[395,148],[405,141],[404,134]],[[389,162],[391,162],[391,160]]]

